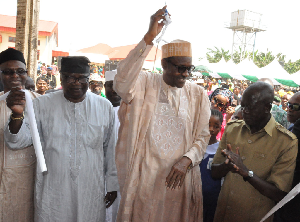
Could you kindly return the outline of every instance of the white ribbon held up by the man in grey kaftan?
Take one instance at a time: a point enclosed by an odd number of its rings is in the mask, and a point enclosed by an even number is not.
[[[28,119],[29,119],[29,128],[30,128],[30,133],[31,133],[31,137],[32,137],[32,142],[33,142],[33,146],[35,148],[35,155],[37,156],[37,162],[41,168],[41,171],[44,172],[44,171],[47,171],[47,167],[46,167],[46,162],[45,162],[42,144],[41,144],[41,140],[40,140],[40,135],[38,133],[37,122],[35,120],[35,112],[33,110],[32,99],[27,90],[21,89],[21,91],[25,92],[26,110],[27,110]],[[4,95],[0,96],[0,101],[5,100],[9,93],[10,93],[10,91],[5,93]]]

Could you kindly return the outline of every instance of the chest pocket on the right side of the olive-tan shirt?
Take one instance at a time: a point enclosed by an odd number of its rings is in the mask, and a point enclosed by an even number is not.
[[[251,167],[255,168],[255,171],[253,172],[257,176],[265,179],[269,175],[275,161],[276,155],[255,151],[252,158]]]

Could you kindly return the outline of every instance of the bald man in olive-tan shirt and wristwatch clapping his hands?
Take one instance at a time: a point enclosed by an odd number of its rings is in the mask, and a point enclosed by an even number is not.
[[[241,99],[244,120],[226,125],[211,166],[213,178],[225,177],[214,221],[259,221],[291,188],[298,140],[275,122],[273,99],[271,85],[252,84]]]

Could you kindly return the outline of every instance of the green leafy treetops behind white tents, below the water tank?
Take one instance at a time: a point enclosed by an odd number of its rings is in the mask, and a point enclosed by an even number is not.
[[[208,48],[207,50],[209,50],[206,53],[206,58],[210,63],[217,63],[221,60],[222,57],[224,57],[224,59],[226,60],[226,62],[228,60],[231,59],[231,55],[228,54],[229,50],[225,51],[223,48],[218,49],[217,47],[214,47],[216,50]],[[285,63],[285,58],[286,55],[282,55],[281,52],[279,52],[277,55],[273,55],[271,51],[268,51],[264,53],[264,52],[260,52],[257,53],[258,50],[256,50],[254,52],[254,64],[258,67],[263,67],[268,65],[269,63],[271,63],[275,58],[278,61],[284,62],[284,69],[286,70],[286,72],[288,72],[289,74],[295,73],[297,71],[300,70],[300,59],[295,61],[295,62],[291,62],[291,60],[289,60],[287,63]],[[232,60],[237,64],[240,62],[240,55],[241,55],[241,47],[239,47],[239,52],[235,50],[235,52],[232,55]],[[244,54],[244,58],[252,58],[253,52],[250,51],[245,51]],[[199,60],[203,59],[202,57],[199,58]]]

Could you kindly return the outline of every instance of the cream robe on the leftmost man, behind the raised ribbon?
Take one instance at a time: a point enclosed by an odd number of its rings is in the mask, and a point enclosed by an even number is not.
[[[32,91],[29,93],[32,99],[40,96]],[[1,95],[3,92],[0,92]],[[33,146],[10,150],[5,145],[3,129],[10,113],[6,99],[0,101],[0,221],[33,221],[35,150]]]

